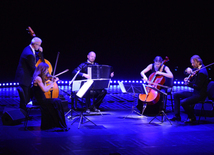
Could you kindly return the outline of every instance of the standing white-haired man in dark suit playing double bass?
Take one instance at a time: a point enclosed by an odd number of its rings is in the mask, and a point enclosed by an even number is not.
[[[16,81],[24,91],[26,103],[30,101],[30,87],[32,82],[33,73],[35,71],[36,64],[36,51],[43,51],[42,40],[38,37],[34,37],[31,40],[30,45],[24,48],[19,64],[16,70]],[[26,103],[20,103],[20,108],[26,111]]]

